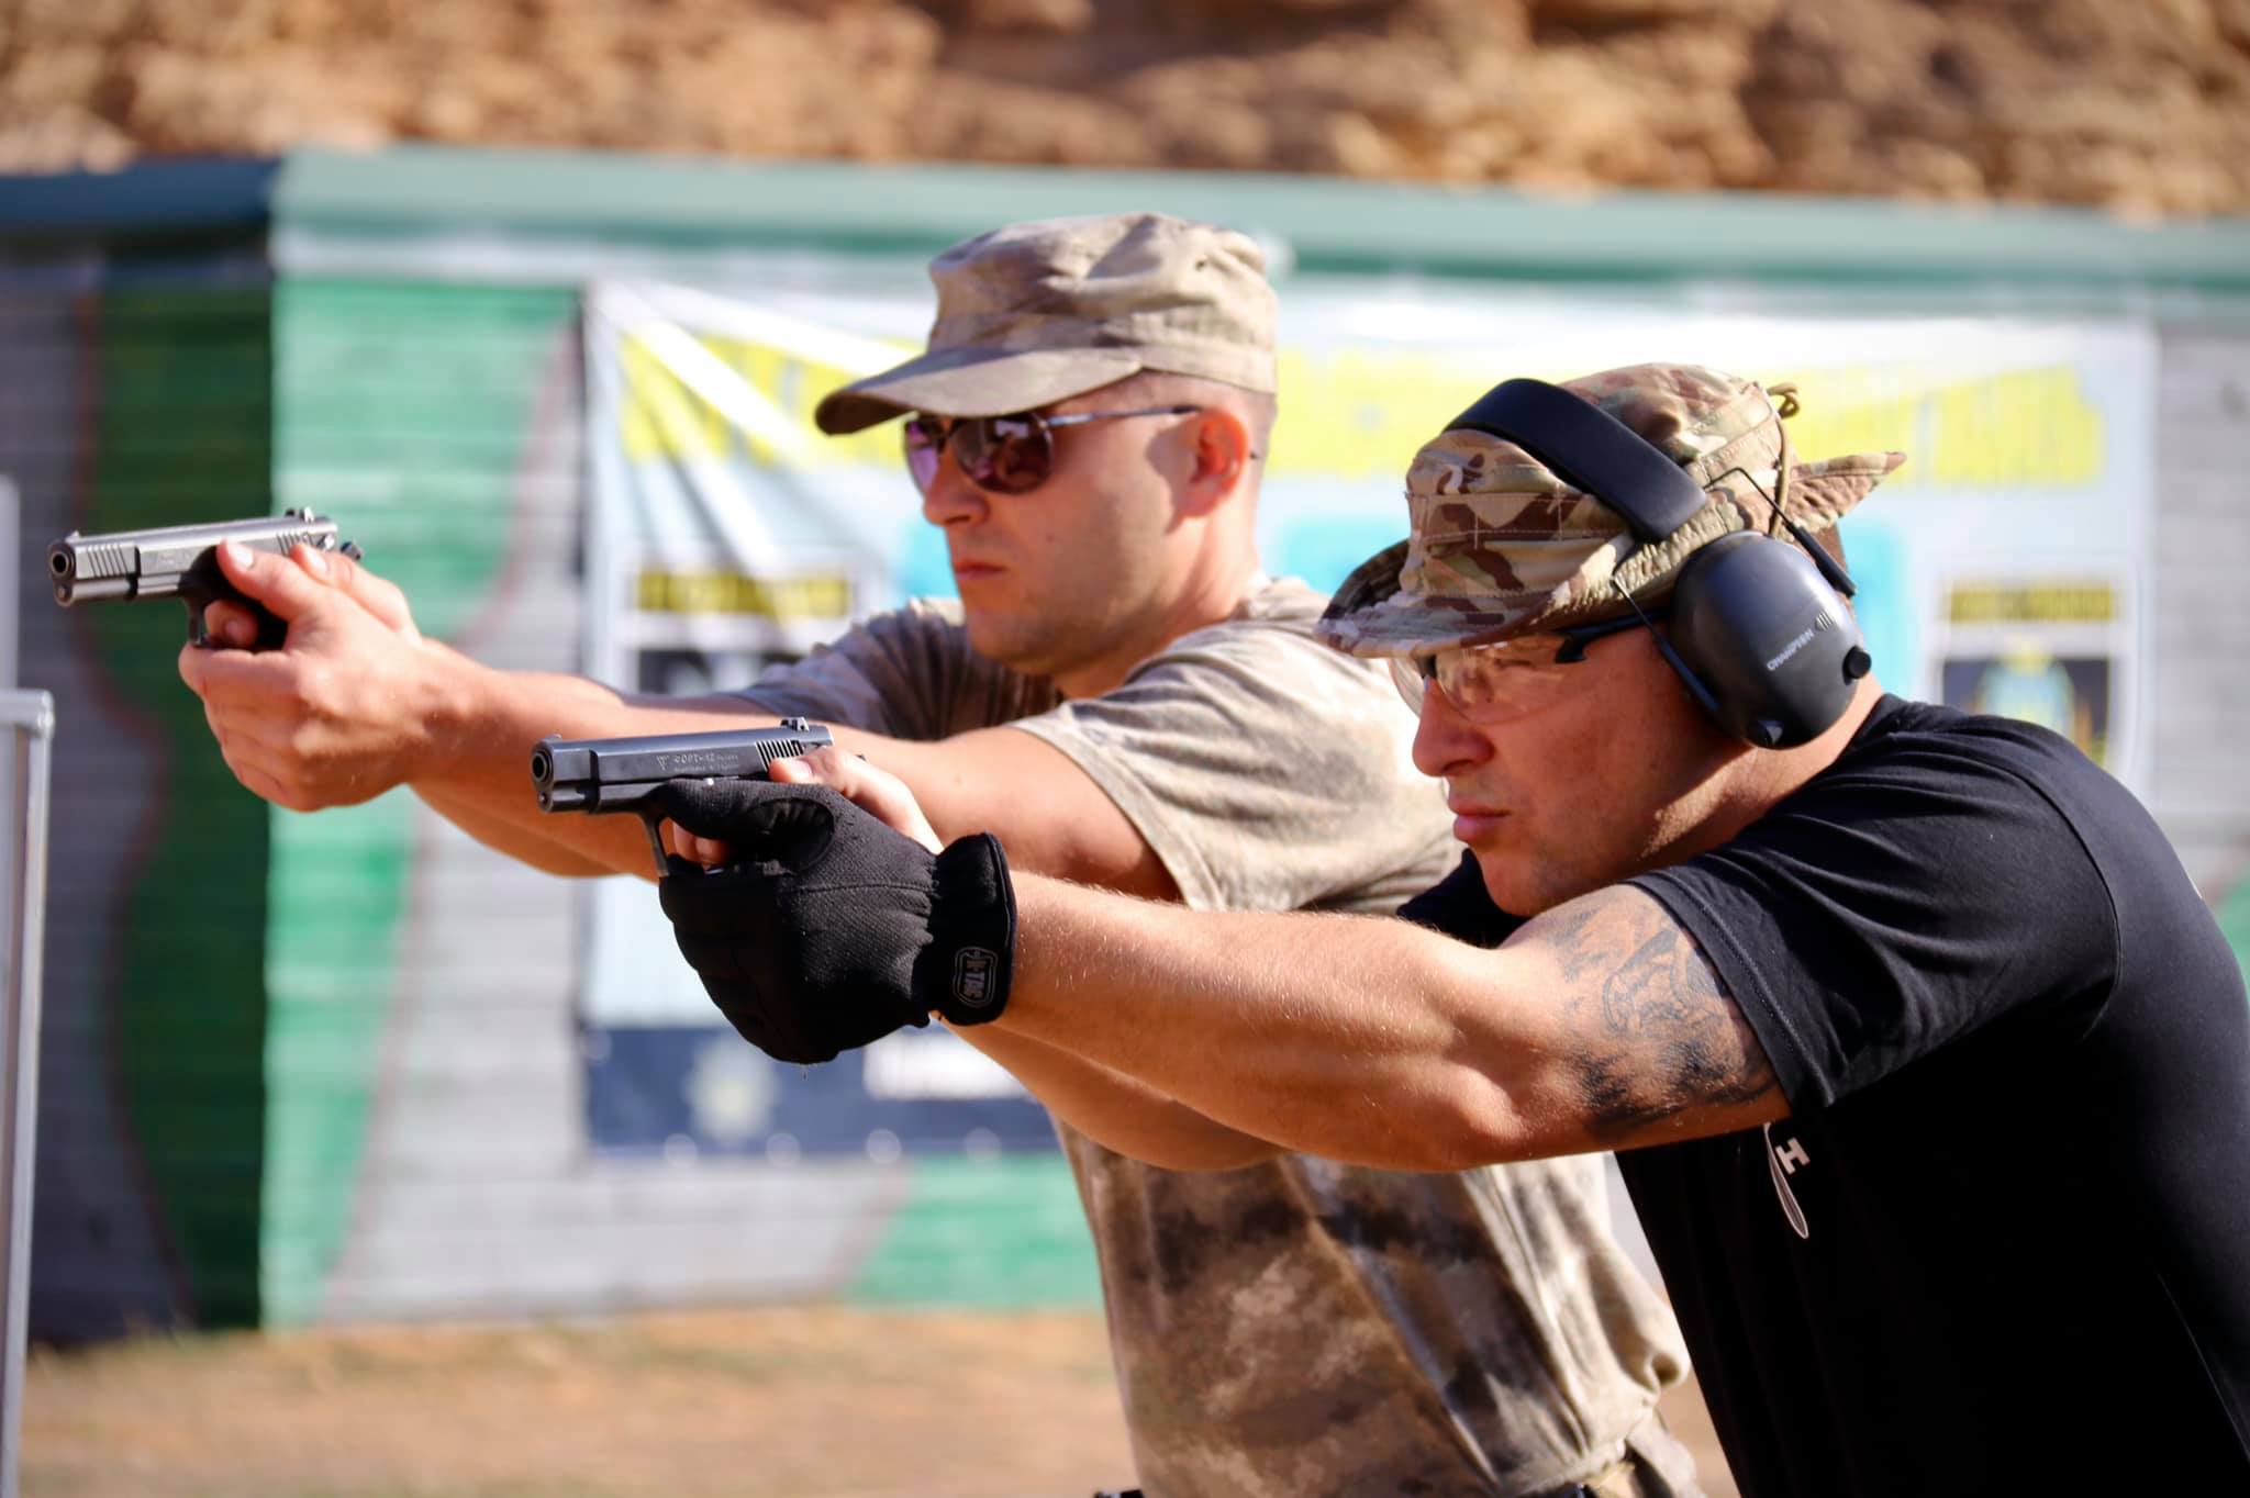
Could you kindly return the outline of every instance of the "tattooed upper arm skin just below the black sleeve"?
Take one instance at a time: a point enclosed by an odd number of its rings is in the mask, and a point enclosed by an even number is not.
[[[1764,1046],[1703,949],[1652,897],[1602,891],[1541,915],[1564,981],[1570,1062],[1593,1138],[1618,1145],[1683,1109],[1775,1091]]]

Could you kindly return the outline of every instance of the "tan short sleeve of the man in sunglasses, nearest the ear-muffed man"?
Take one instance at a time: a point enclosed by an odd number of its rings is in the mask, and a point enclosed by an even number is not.
[[[1390,911],[1451,859],[1413,715],[1310,619],[1197,630],[1114,693],[1012,727],[1084,769],[1195,909]]]

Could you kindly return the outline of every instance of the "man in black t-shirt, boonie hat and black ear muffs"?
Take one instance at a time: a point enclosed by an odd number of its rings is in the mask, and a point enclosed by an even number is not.
[[[990,940],[954,1023],[1244,1136],[1408,1170],[1618,1149],[1750,1498],[2250,1491],[2243,974],[2068,740],[1876,686],[1811,549],[1899,459],[1800,463],[1786,409],[1681,364],[1510,380],[1415,459],[1406,544],[1323,623],[1406,664],[1469,848],[1406,920],[990,864],[929,920],[893,891],[972,839],[864,789],[909,837],[839,814],[848,859],[760,850],[857,931]],[[772,990],[920,1001],[819,960]]]

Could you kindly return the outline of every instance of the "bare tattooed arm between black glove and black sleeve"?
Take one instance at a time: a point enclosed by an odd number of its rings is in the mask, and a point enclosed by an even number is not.
[[[1015,886],[1015,985],[992,1028],[1289,1149],[1460,1170],[1789,1111],[1694,938],[1629,886],[1490,951],[1400,920]]]

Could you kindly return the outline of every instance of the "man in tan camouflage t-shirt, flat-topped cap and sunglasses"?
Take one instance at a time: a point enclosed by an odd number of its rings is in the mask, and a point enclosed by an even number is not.
[[[405,607],[371,576],[340,567],[322,587],[254,560],[243,592],[324,630],[256,661],[182,657],[236,774],[299,807],[407,780],[542,868],[644,873],[637,830],[616,825],[630,819],[536,812],[522,765],[540,736],[806,715],[844,751],[821,774],[893,771],[936,828],[992,830],[1017,868],[1195,909],[1370,913],[1442,875],[1444,810],[1406,758],[1413,720],[1379,668],[1312,639],[1318,594],[1258,567],[1276,306],[1256,241],[1166,214],[1053,218],[954,245],[932,279],[927,351],[830,394],[817,421],[904,418],[958,601],[868,619],[742,695],[664,702],[421,648],[382,623]],[[324,753],[306,758],[286,729],[310,702],[286,682],[335,641],[356,679],[396,691],[362,702],[385,715],[317,718]],[[457,704],[457,722],[416,702]],[[808,774],[796,765],[776,780]],[[693,794],[680,814],[716,825]],[[756,1005],[740,974],[783,967],[794,938],[745,942],[729,904],[742,877],[758,875],[675,875],[664,902],[684,947],[740,951],[706,987],[745,1037],[819,1062],[922,1023]],[[1654,1417],[1683,1377],[1678,1327],[1609,1237],[1593,1158],[1336,1167],[1053,1046],[968,1035],[1058,1116],[1148,1491],[1692,1491]]]

